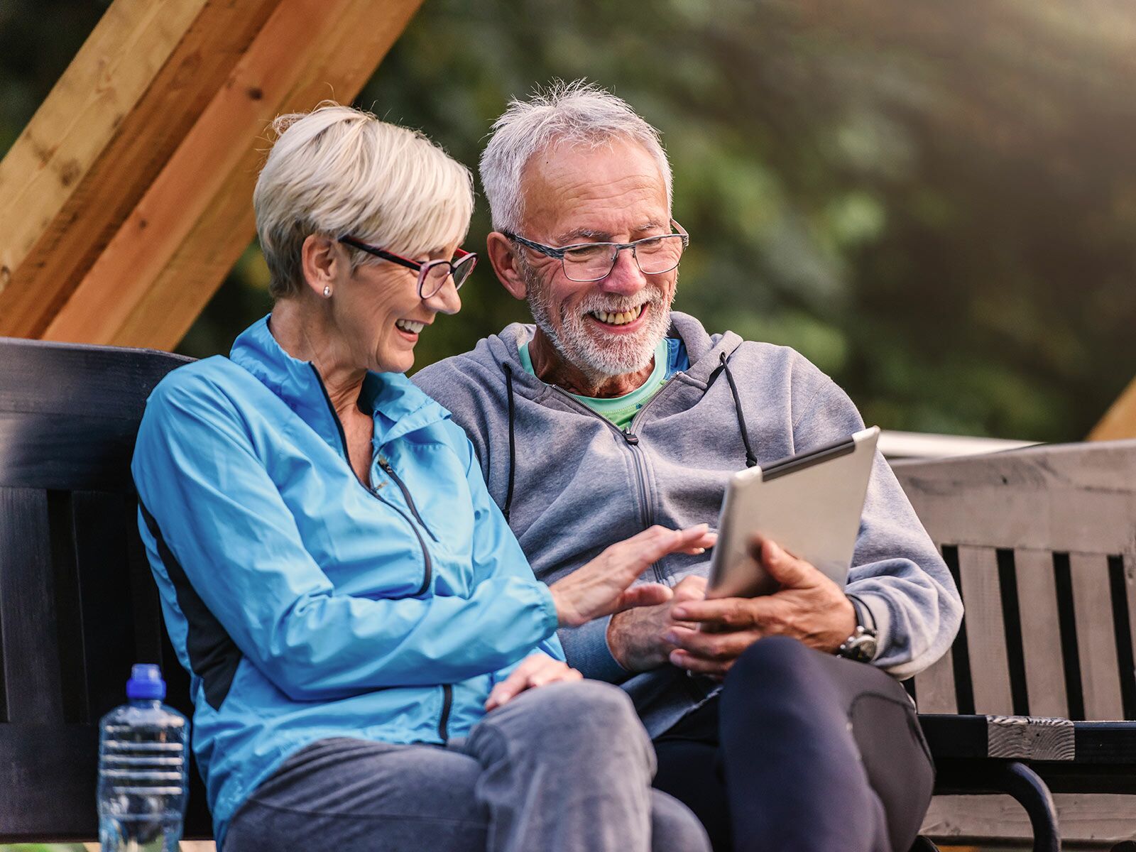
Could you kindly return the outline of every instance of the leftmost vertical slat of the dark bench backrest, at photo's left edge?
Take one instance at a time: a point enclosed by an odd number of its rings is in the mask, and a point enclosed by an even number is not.
[[[0,720],[64,719],[50,541],[47,493],[0,488]]]

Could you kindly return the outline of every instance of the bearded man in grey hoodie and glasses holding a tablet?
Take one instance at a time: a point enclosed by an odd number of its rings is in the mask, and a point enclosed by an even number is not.
[[[652,524],[713,524],[735,470],[862,427],[799,353],[670,310],[688,236],[658,132],[627,103],[582,83],[513,101],[481,172],[490,260],[535,327],[416,381],[469,433],[538,577]],[[958,629],[946,567],[879,457],[846,586],[775,542],[754,558],[777,593],[703,600],[705,556],[657,562],[645,578],[673,600],[562,630],[569,662],[632,695],[655,785],[716,849],[905,852],[934,772],[896,678]]]

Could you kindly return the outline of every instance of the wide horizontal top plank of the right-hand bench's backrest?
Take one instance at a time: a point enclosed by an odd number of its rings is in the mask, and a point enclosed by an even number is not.
[[[1136,553],[1136,441],[895,462],[936,542]]]

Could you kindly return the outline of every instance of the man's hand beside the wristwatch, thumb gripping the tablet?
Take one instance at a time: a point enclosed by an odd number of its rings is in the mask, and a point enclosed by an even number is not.
[[[667,636],[677,645],[670,661],[690,671],[722,677],[738,655],[762,636],[792,636],[832,653],[855,630],[855,610],[844,590],[775,542],[754,538],[751,556],[780,583],[762,598],[719,598],[676,604]]]

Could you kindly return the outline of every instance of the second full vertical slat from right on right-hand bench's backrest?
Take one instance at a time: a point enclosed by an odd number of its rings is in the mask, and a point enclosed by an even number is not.
[[[1068,716],[1069,701],[1061,665],[1061,630],[1058,626],[1053,557],[1049,551],[1021,549],[1014,551],[1013,562],[1018,574],[1029,713]]]

